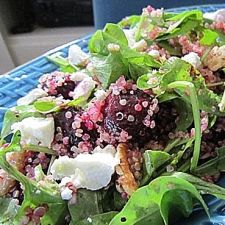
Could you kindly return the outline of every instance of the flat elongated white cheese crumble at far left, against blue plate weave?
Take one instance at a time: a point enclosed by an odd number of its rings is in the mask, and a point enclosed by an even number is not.
[[[32,91],[30,91],[26,96],[20,98],[17,100],[17,105],[29,105],[36,101],[39,98],[46,97],[48,94],[40,89],[40,88],[35,88]]]

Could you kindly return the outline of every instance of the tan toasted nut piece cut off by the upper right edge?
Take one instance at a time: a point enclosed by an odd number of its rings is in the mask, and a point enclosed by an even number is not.
[[[225,67],[225,45],[213,47],[204,60],[204,65],[212,71]]]

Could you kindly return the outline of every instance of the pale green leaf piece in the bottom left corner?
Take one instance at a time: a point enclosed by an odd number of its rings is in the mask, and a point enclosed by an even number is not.
[[[15,215],[19,209],[19,205],[15,199],[1,198],[0,199],[0,224],[11,225]]]

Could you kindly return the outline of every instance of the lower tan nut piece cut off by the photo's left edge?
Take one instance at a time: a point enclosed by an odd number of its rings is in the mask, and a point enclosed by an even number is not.
[[[6,195],[16,184],[16,181],[9,177],[3,169],[0,169],[0,197]]]

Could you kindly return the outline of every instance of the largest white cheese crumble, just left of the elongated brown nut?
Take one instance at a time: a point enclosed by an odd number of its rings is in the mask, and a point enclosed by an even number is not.
[[[92,154],[79,154],[76,158],[61,156],[51,166],[55,180],[61,180],[60,186],[72,182],[76,188],[99,190],[106,187],[119,158],[112,145],[104,149],[97,147]]]

